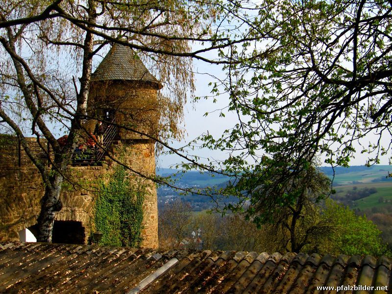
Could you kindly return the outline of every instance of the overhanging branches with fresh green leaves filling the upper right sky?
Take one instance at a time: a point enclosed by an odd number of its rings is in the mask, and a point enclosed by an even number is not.
[[[229,153],[209,165],[232,177],[221,192],[243,200],[229,209],[242,209],[260,187],[284,203],[279,191],[316,157],[348,166],[355,151],[367,154],[368,165],[390,154],[391,11],[377,0],[253,6],[241,28],[249,39],[221,50],[230,62],[225,78],[211,83],[213,94],[229,97],[221,116],[235,113],[237,123],[221,137],[199,138],[202,147]]]

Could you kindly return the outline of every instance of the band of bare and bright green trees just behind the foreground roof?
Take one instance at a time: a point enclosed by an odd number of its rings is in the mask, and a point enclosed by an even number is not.
[[[177,199],[166,204],[159,214],[159,245],[180,249],[392,257],[391,246],[372,222],[379,214],[370,220],[333,200],[314,212],[298,220],[291,228],[293,233],[284,219],[258,227],[240,214],[195,213],[189,203]],[[391,215],[383,220],[388,225]],[[293,242],[299,245],[294,248]]]

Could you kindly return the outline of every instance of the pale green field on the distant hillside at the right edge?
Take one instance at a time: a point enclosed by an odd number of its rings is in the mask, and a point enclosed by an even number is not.
[[[343,196],[348,191],[351,191],[353,187],[357,187],[358,189],[374,187],[377,189],[377,193],[371,194],[368,197],[354,201],[355,205],[351,206],[351,208],[359,208],[362,210],[366,208],[379,207],[379,206],[384,206],[386,204],[392,204],[392,182],[390,181],[338,186],[335,187],[336,194],[338,196]],[[380,197],[384,198],[384,202],[379,202]]]

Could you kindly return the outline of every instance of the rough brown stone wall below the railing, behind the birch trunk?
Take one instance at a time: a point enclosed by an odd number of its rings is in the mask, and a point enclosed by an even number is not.
[[[56,213],[56,221],[80,221],[85,228],[85,241],[90,235],[95,200],[94,182],[108,171],[103,167],[70,167],[79,186],[64,184],[60,194],[63,203]],[[37,223],[40,199],[44,185],[38,169],[34,166],[2,167],[0,169],[0,241],[19,240],[18,232]]]

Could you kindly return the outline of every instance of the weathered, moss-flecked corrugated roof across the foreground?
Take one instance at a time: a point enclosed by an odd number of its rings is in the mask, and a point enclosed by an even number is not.
[[[3,243],[0,293],[336,293],[317,287],[390,289],[391,267],[372,256]]]

